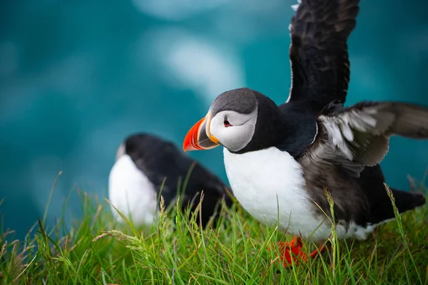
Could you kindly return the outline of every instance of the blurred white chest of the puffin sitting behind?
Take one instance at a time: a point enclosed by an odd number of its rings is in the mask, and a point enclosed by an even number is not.
[[[156,190],[128,155],[122,155],[111,168],[108,199],[136,226],[151,224],[157,217]],[[111,210],[113,216],[121,222],[121,216],[115,209]]]

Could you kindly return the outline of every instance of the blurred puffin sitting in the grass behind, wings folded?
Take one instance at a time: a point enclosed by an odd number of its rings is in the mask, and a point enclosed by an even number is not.
[[[178,191],[183,193],[183,210],[190,203],[191,212],[203,192],[201,219],[198,215],[197,221],[204,228],[211,217],[217,219],[221,199],[228,207],[233,204],[228,186],[173,142],[150,133],[134,133],[121,143],[108,177],[108,199],[135,226],[153,224],[159,214],[160,195],[168,207],[176,201]],[[113,216],[123,222],[116,209],[111,207]]]

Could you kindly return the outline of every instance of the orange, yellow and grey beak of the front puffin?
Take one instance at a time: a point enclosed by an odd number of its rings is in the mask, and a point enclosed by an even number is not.
[[[220,142],[210,133],[211,114],[208,112],[205,118],[195,123],[185,135],[183,150],[210,150],[218,147]]]

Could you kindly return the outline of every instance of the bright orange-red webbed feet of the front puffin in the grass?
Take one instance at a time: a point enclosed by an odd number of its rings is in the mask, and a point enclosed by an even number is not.
[[[281,255],[280,259],[284,262],[284,266],[290,266],[292,263],[298,264],[299,261],[307,261],[307,255],[302,252],[302,239],[293,237],[291,242],[278,242]],[[315,258],[318,253],[325,251],[325,246],[321,246],[317,250],[310,253],[310,258]]]

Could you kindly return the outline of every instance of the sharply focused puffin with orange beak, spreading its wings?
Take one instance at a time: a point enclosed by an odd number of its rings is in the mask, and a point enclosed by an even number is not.
[[[389,138],[428,138],[428,108],[365,101],[345,107],[350,81],[347,38],[359,0],[302,0],[290,23],[292,88],[285,103],[250,88],[218,95],[190,128],[183,150],[223,145],[225,170],[244,209],[295,235],[282,247],[285,264],[303,239],[331,234],[334,201],[339,239],[367,239],[394,218],[379,163]],[[419,192],[391,189],[399,212],[425,204]],[[315,257],[325,247],[310,254]]]

